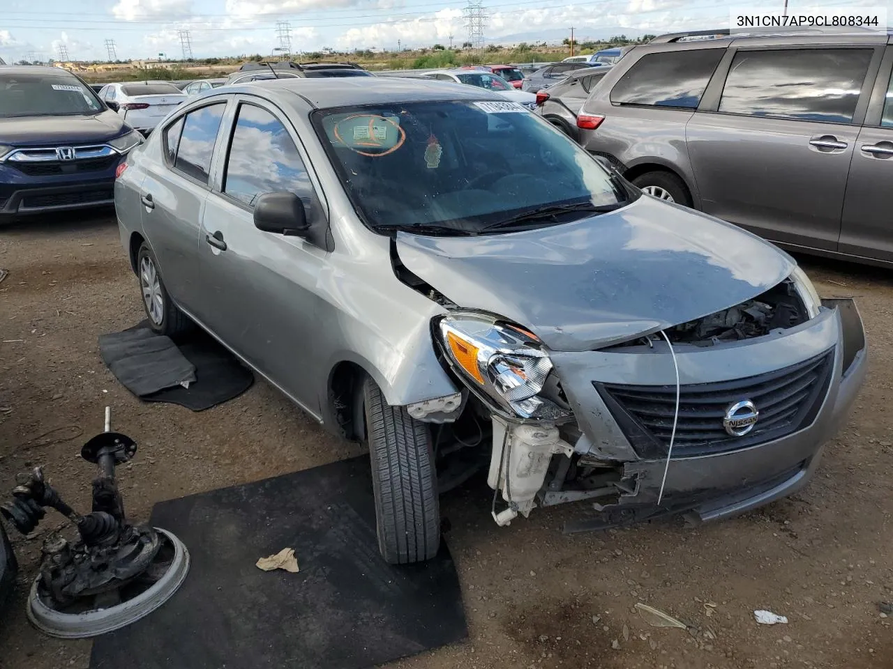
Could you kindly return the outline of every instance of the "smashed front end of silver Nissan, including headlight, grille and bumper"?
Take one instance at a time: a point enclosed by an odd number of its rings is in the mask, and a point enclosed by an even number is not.
[[[738,513],[805,484],[855,399],[861,320],[852,301],[829,306],[797,269],[747,301],[594,351],[551,351],[523,326],[454,310],[434,326],[468,390],[448,419],[474,416],[478,450],[491,444],[500,525],[580,500],[597,513],[568,530]],[[739,405],[754,408],[752,424]]]

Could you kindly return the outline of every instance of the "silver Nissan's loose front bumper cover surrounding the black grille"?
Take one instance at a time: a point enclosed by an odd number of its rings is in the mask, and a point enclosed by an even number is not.
[[[814,419],[772,441],[739,450],[672,458],[667,467],[660,508],[657,507],[666,458],[642,458],[614,420],[611,409],[594,392],[592,376],[605,383],[666,384],[675,387],[669,353],[555,353],[555,371],[584,434],[577,452],[614,461],[622,482],[611,503],[597,504],[607,513],[648,510],[691,511],[702,520],[742,513],[802,488],[814,474],[824,443],[847,417],[866,370],[864,329],[851,300],[824,301],[828,309],[809,323],[763,342],[677,350],[681,384],[721,382],[784,368],[825,351],[833,351],[830,381]]]

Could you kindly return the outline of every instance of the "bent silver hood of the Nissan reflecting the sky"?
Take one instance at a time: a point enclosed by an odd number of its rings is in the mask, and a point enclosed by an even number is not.
[[[647,196],[618,211],[501,235],[397,234],[406,268],[464,309],[588,351],[727,309],[777,285],[787,253]]]

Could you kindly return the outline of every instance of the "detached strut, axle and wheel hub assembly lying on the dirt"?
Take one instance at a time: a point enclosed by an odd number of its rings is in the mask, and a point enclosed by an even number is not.
[[[63,501],[42,467],[18,475],[13,500],[0,504],[0,515],[22,534],[34,532],[46,508],[78,528],[75,541],[50,533],[31,586],[29,618],[51,636],[91,637],[130,624],[170,599],[188,572],[188,551],[177,537],[130,524],[124,515],[115,467],[136,455],[137,444],[112,432],[110,423],[106,407],[105,431],[80,450],[99,470],[90,513],[81,515]]]

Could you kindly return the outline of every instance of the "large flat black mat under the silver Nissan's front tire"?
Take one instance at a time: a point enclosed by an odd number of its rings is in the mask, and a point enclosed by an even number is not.
[[[97,638],[91,669],[355,669],[467,634],[445,542],[427,563],[381,559],[369,458],[162,502],[151,520],[186,543],[186,582]],[[255,566],[284,548],[297,574]]]

